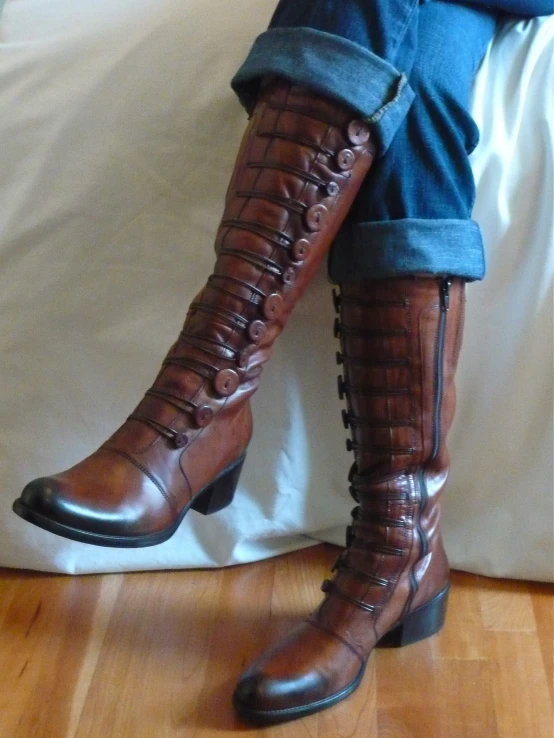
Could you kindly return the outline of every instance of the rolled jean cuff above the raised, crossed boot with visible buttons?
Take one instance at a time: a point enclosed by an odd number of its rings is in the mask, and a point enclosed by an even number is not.
[[[362,46],[313,28],[270,28],[254,41],[231,87],[248,113],[266,75],[286,77],[345,103],[389,147],[414,99],[405,74]]]

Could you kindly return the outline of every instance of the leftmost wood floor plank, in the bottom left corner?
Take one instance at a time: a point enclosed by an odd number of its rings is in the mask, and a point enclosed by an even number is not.
[[[22,580],[2,625],[0,735],[66,736],[99,577]]]

